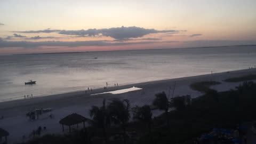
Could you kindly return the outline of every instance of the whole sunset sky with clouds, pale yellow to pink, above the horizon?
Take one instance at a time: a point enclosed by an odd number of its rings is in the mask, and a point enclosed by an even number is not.
[[[1,0],[0,54],[256,44],[255,0]]]

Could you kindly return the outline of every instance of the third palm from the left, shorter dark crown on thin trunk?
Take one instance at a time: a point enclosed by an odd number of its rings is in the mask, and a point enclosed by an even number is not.
[[[148,125],[149,134],[151,135],[152,113],[150,106],[135,106],[133,108],[133,119],[138,119],[139,121],[146,123]]]

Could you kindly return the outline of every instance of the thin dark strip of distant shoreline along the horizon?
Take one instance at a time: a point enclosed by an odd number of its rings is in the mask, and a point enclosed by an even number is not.
[[[195,49],[195,48],[210,48],[210,47],[231,47],[231,46],[256,46],[252,45],[224,45],[224,46],[201,46],[201,47],[180,47],[180,48],[169,48],[169,49],[143,49],[143,50],[115,50],[115,51],[85,51],[85,52],[53,52],[53,53],[21,53],[11,55],[32,55],[32,54],[68,54],[68,53],[87,53],[87,52],[116,52],[116,51],[145,51],[145,50],[170,50],[170,49]]]

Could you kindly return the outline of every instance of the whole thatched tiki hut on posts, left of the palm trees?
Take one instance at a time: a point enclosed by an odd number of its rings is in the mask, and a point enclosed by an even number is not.
[[[68,115],[62,119],[60,119],[60,124],[62,124],[62,131],[64,131],[64,125],[67,125],[69,126],[69,132],[71,132],[71,129],[70,129],[70,126],[71,125],[77,125],[78,127],[78,124],[79,123],[85,123],[86,121],[88,121],[90,119],[86,118],[86,117],[83,117],[81,115],[78,115],[76,113],[73,113],[71,115]],[[85,124],[84,124],[84,127],[85,127]]]

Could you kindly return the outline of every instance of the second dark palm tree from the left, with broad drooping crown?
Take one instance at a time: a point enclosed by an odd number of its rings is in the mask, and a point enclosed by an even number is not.
[[[109,105],[108,109],[110,112],[111,120],[115,124],[121,124],[122,129],[123,129],[123,138],[124,138],[124,143],[126,143],[125,140],[125,128],[126,128],[126,123],[130,119],[130,102],[127,99],[124,100],[119,100],[119,99],[114,99],[112,100]]]

